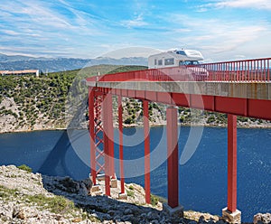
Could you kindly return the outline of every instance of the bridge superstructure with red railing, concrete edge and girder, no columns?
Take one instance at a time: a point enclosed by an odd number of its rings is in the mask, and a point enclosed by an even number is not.
[[[87,79],[102,93],[169,105],[271,120],[271,58],[156,70]]]

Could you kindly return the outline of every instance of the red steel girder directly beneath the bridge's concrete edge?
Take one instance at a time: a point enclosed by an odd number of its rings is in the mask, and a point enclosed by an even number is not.
[[[135,98],[139,98],[141,100],[149,100],[168,105],[175,104],[178,107],[199,108],[224,114],[271,120],[270,99],[234,98],[169,92],[167,95],[172,98],[169,100],[168,96],[166,97],[164,93],[161,94],[161,92],[158,91],[136,90],[136,93],[137,92],[140,92],[140,94],[136,95]],[[126,89],[117,89],[117,94],[120,94],[122,97],[127,97]]]

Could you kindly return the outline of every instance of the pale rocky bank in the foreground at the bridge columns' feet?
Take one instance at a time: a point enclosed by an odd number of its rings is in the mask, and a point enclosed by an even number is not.
[[[104,191],[104,182],[99,182]],[[118,182],[119,186],[119,182]],[[169,217],[161,202],[145,204],[145,191],[126,184],[127,200],[91,196],[89,180],[28,173],[14,165],[0,166],[0,223],[226,223],[218,216],[184,211],[184,218]]]

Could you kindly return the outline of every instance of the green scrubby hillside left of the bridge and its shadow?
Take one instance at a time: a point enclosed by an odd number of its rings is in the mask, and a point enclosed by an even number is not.
[[[146,67],[97,65],[81,70],[42,74],[40,77],[2,76],[0,77],[1,132],[65,128],[67,126],[65,102],[72,83],[77,87],[76,82],[96,76],[98,73],[139,69],[143,70]],[[78,85],[78,88],[81,86],[83,84]],[[81,89],[78,91],[80,92]]]

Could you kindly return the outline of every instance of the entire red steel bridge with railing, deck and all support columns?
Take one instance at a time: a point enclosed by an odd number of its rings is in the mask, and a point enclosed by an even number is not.
[[[237,116],[271,120],[271,58],[205,63],[154,70],[136,70],[87,79],[91,177],[105,173],[106,195],[114,172],[112,97],[118,98],[119,161],[121,192],[124,188],[122,98],[143,101],[145,129],[145,201],[150,203],[150,138],[148,104],[168,105],[167,182],[170,213],[178,210],[178,117],[177,107],[192,107],[228,115],[228,205],[222,213],[229,222],[240,222],[237,210]],[[102,135],[100,135],[102,133]],[[103,145],[103,147],[100,147]],[[102,149],[101,149],[102,148]],[[104,157],[104,163],[99,158]]]

